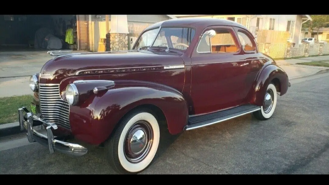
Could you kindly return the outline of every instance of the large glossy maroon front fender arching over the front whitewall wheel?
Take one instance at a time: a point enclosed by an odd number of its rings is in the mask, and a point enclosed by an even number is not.
[[[93,144],[104,142],[126,113],[144,104],[155,105],[162,110],[171,134],[181,132],[187,124],[188,105],[176,89],[144,81],[114,83],[113,88],[100,91],[86,101],[89,104],[90,123],[88,127],[75,130],[78,139],[80,137]],[[81,134],[82,132],[85,134]]]

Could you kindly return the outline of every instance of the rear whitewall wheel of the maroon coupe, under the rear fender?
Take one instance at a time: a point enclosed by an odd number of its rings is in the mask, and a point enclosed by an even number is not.
[[[254,112],[254,116],[259,120],[267,120],[270,118],[275,110],[277,100],[277,91],[274,84],[270,83],[267,86],[263,106],[261,106],[261,110]]]

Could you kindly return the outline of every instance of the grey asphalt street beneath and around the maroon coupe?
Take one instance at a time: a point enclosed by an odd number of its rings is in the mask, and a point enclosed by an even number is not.
[[[140,174],[328,174],[329,74],[294,79],[266,121],[252,114],[162,135],[160,153]],[[163,129],[165,130],[165,129]],[[1,174],[113,174],[103,148],[82,157],[49,154],[25,135],[0,138]]]

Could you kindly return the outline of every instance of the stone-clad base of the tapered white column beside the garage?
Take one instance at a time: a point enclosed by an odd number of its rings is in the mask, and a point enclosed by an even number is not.
[[[110,33],[111,51],[128,50],[128,34]]]

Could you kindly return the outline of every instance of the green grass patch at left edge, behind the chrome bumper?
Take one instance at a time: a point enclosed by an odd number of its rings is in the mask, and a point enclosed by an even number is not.
[[[30,103],[32,100],[31,95],[0,98],[0,124],[18,121],[18,108],[25,106],[31,111]]]

